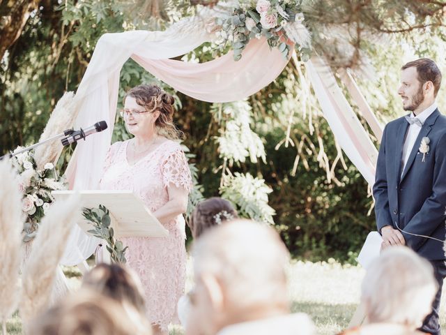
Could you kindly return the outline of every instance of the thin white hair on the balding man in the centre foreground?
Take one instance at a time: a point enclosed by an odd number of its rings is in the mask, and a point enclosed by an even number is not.
[[[283,304],[289,252],[277,232],[261,223],[235,220],[205,232],[193,248],[195,275],[211,274],[238,308]]]

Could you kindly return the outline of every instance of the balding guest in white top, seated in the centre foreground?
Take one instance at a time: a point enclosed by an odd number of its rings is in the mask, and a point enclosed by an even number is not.
[[[289,252],[274,229],[236,220],[194,243],[186,334],[314,334],[307,315],[290,313]]]

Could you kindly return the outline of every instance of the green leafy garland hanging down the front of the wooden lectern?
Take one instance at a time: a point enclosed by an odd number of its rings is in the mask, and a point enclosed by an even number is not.
[[[110,253],[110,258],[114,263],[126,263],[125,251],[128,246],[123,245],[122,241],[114,238],[114,230],[110,227],[112,219],[110,212],[104,205],[100,204],[99,208],[84,208],[82,215],[91,225],[93,229],[88,232],[94,237],[103,239],[107,242],[107,251]]]

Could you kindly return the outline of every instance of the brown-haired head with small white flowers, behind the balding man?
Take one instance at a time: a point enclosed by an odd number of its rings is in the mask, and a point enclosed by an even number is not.
[[[238,218],[237,211],[228,200],[214,197],[197,204],[190,221],[192,237],[197,238],[208,228]]]

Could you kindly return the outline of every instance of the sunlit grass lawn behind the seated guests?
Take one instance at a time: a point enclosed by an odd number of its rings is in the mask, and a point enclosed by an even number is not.
[[[187,264],[187,289],[192,281],[191,262]],[[70,285],[79,286],[77,268],[64,269]],[[342,266],[337,262],[292,262],[289,268],[290,295],[293,312],[309,314],[320,335],[333,335],[347,327],[360,299],[360,285],[364,270],[360,267]],[[446,297],[440,311],[440,322],[446,329]],[[8,334],[22,334],[17,313],[7,322]],[[170,335],[180,335],[180,327],[171,327]]]

